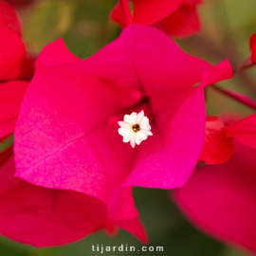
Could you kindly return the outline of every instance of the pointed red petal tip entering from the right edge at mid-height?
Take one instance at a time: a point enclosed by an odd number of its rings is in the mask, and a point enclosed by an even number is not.
[[[235,137],[247,146],[256,149],[256,114],[224,128],[228,137]]]

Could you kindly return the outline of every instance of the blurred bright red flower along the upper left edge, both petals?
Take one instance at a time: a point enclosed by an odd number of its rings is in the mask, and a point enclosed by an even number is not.
[[[12,7],[0,1],[0,137],[14,131],[28,82],[34,74],[33,56],[26,55],[21,23]]]

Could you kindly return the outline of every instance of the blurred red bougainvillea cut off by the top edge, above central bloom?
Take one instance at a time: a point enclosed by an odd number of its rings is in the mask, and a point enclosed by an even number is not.
[[[132,0],[133,16],[128,0],[120,0],[111,18],[121,27],[142,24],[157,27],[175,37],[186,37],[199,31],[200,20],[196,11],[200,0]]]

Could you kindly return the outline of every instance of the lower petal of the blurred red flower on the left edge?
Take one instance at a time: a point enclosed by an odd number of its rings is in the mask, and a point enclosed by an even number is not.
[[[0,83],[0,137],[14,132],[27,86],[28,82],[22,81]]]

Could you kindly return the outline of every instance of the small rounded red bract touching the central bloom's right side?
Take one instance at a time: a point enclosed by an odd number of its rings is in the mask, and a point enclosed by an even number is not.
[[[200,160],[207,164],[222,164],[229,160],[234,151],[233,140],[222,129],[225,124],[216,117],[207,118],[206,138]]]

